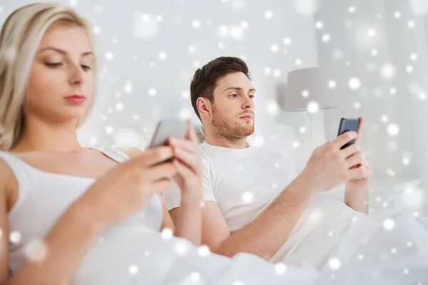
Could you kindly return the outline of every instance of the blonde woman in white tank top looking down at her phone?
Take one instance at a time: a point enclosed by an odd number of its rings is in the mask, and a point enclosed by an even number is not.
[[[71,281],[96,237],[123,220],[173,229],[161,197],[171,176],[185,207],[174,235],[200,244],[201,163],[190,122],[187,140],[146,152],[78,143],[96,85],[90,31],[57,4],[24,6],[2,28],[1,284]]]

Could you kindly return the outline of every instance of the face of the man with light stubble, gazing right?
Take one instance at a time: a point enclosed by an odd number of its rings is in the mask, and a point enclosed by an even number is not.
[[[224,138],[245,138],[254,132],[255,89],[242,72],[217,81],[212,103],[211,126]]]

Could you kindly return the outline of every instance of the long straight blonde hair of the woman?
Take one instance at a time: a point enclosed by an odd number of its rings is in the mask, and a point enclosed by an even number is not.
[[[83,28],[93,52],[93,35],[88,22],[61,4],[30,4],[14,11],[0,33],[0,150],[9,151],[24,129],[24,103],[31,66],[46,30],[58,22]],[[95,72],[95,66],[94,66]],[[96,74],[96,73],[95,73]],[[95,84],[96,86],[96,84]],[[94,90],[95,95],[95,90]],[[79,128],[93,108],[88,106]]]

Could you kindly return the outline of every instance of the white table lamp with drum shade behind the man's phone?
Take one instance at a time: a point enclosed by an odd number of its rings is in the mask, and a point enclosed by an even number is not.
[[[318,110],[330,108],[337,108],[337,88],[327,70],[302,68],[288,73],[283,110],[307,113],[312,149],[325,142],[324,116]]]

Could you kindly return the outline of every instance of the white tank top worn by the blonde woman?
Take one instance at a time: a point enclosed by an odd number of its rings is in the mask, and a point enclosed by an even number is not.
[[[121,163],[129,159],[120,150],[105,150],[104,155]],[[63,212],[96,180],[88,177],[54,174],[32,167],[10,152],[0,152],[18,182],[18,199],[9,212],[9,268],[21,266],[34,244],[41,241]],[[132,217],[113,225],[101,236],[121,227],[142,227],[157,232],[162,225],[162,204],[158,195]],[[102,239],[102,237],[101,237]]]

